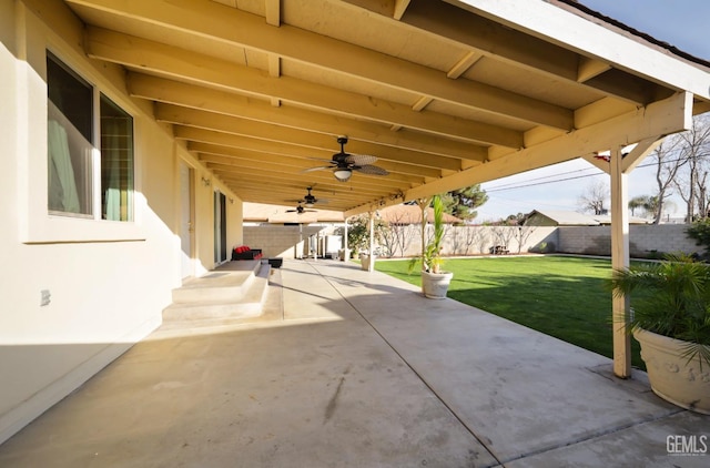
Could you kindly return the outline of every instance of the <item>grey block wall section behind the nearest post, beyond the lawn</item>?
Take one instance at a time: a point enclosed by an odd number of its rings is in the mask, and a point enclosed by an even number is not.
[[[629,226],[629,253],[631,256],[649,256],[658,253],[702,253],[703,248],[688,237],[684,224]],[[611,228],[609,226],[558,227],[558,252],[591,255],[611,255]]]

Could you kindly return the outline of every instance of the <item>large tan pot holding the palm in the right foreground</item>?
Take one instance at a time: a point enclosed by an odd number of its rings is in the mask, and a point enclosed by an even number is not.
[[[648,379],[656,395],[681,408],[710,415],[710,365],[682,357],[686,342],[643,329],[633,332],[641,344]]]

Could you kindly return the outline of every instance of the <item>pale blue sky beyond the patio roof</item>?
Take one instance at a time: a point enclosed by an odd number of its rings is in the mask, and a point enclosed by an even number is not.
[[[668,42],[694,57],[710,60],[710,0],[579,0],[609,18]],[[656,192],[653,169],[640,166],[629,174],[629,199]],[[488,202],[478,207],[477,222],[496,221],[532,210],[579,210],[580,195],[608,175],[586,161],[571,161],[483,184]],[[555,182],[561,181],[561,182]],[[671,199],[670,216],[682,216],[683,202]],[[674,212],[674,213],[673,213]]]

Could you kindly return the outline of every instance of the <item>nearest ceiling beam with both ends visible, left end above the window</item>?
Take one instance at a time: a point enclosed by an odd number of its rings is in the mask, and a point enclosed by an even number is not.
[[[404,104],[337,90],[290,77],[278,79],[248,67],[165,45],[102,28],[87,28],[87,54],[166,78],[222,89],[270,101],[278,98],[298,106],[417,130],[478,144],[518,149],[520,132],[435,112],[412,112]],[[495,143],[494,143],[495,142]]]

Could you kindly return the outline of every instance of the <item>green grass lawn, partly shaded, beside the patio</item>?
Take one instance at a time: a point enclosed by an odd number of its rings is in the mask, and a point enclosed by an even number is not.
[[[422,285],[408,261],[378,261],[376,269]],[[609,260],[510,256],[447,260],[454,272],[448,297],[612,357],[611,293],[605,279]],[[639,346],[631,339],[631,362],[645,369]]]

